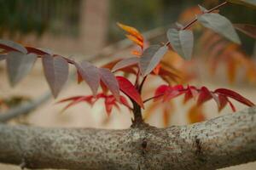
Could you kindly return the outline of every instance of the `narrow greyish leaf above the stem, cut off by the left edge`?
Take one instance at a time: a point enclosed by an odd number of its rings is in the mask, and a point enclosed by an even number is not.
[[[0,40],[0,48],[3,48],[7,51],[18,51],[20,53],[26,54],[26,48],[21,46],[19,43],[12,42],[9,40]]]

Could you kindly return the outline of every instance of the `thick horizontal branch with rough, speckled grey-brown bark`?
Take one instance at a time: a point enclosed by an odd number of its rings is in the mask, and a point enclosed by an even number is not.
[[[256,160],[256,108],[124,130],[0,125],[0,161],[30,168],[216,169]]]

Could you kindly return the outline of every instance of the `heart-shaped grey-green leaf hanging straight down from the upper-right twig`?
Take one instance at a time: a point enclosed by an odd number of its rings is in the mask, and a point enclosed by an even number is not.
[[[167,38],[177,54],[183,57],[183,59],[191,59],[194,44],[192,31],[169,29],[167,31]]]

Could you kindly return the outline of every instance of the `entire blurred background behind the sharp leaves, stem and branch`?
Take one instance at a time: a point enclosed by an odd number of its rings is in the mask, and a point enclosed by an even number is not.
[[[166,42],[166,31],[173,23],[186,23],[200,14],[197,4],[212,8],[223,1],[218,0],[0,0],[0,39],[20,42],[22,45],[47,48],[55,54],[73,59],[88,59],[103,65],[112,59],[131,57],[136,48],[125,39],[117,22],[134,26],[145,33],[150,43]],[[256,11],[229,4],[220,8],[232,23],[256,24]],[[182,72],[183,84],[198,87],[230,88],[256,102],[256,45],[255,39],[239,33],[241,46],[203,28],[193,26],[195,52],[189,62],[177,54],[166,54],[164,61]],[[73,68],[71,68],[73,70]],[[6,65],[0,62],[0,114],[20,104],[44,96],[49,91],[44,80],[42,65],[38,61],[32,72],[15,88],[10,88],[6,77]],[[149,77],[150,85],[144,89],[144,99],[154,94],[154,88],[162,80]],[[131,114],[125,108],[106,116],[103,101],[90,108],[80,104],[60,113],[65,105],[55,105],[57,100],[73,95],[88,95],[90,89],[75,77],[57,99],[50,98],[36,111],[16,117],[7,123],[23,123],[43,127],[102,127],[126,128],[131,125]],[[183,105],[175,99],[168,107],[147,104],[144,111],[147,122],[157,127],[200,122],[219,116],[216,104],[207,102],[204,108],[195,108],[193,101]],[[234,102],[237,110],[246,108]],[[200,112],[195,114],[195,112]],[[220,114],[230,113],[225,108]],[[0,153],[1,154],[1,153]],[[256,168],[255,163],[227,169]],[[0,164],[0,169],[19,169]]]

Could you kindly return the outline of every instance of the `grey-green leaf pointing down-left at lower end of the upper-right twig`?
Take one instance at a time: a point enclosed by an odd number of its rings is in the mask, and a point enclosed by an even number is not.
[[[166,54],[167,47],[160,45],[152,45],[143,51],[143,55],[140,58],[139,66],[144,76],[147,76],[154,67],[160,63],[160,59]]]

